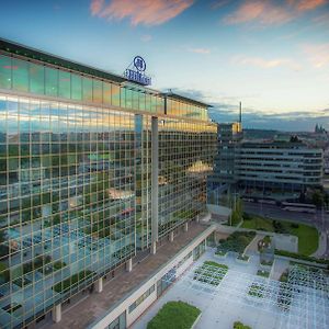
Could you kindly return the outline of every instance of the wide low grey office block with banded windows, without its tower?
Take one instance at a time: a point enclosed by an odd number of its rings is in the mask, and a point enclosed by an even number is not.
[[[241,143],[235,170],[246,188],[299,191],[321,185],[322,162],[322,150],[303,143]]]

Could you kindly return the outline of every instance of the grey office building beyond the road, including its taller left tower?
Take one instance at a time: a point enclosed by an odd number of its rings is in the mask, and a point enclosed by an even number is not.
[[[219,124],[218,155],[211,186],[302,191],[320,186],[324,152],[298,138],[291,141],[245,141],[239,123]],[[217,188],[219,189],[219,188]]]

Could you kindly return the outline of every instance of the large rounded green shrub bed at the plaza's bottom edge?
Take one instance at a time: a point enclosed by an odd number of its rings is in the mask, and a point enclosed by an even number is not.
[[[201,310],[184,302],[168,302],[148,322],[147,329],[190,329]]]

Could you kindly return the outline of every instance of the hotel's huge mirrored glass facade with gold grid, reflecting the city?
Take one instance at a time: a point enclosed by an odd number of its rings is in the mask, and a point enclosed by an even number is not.
[[[152,115],[159,236],[205,209],[216,125],[206,107],[188,115],[193,102],[166,116],[166,101],[0,55],[1,328],[38,319],[150,246]]]

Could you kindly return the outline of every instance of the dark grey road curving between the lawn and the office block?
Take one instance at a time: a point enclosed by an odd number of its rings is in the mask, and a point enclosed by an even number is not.
[[[322,214],[321,211],[317,211],[316,214],[287,212],[276,205],[246,201],[243,202],[243,209],[246,213],[262,217],[314,225],[319,231],[325,234],[327,249],[324,257],[329,258],[329,214]]]

